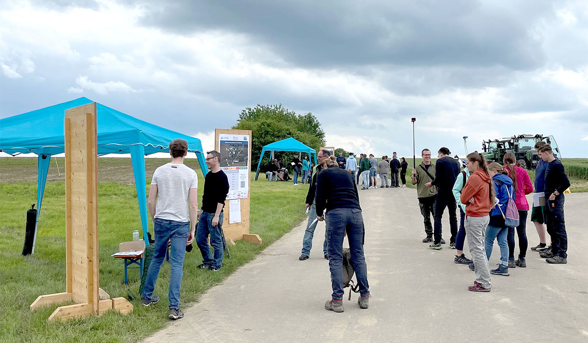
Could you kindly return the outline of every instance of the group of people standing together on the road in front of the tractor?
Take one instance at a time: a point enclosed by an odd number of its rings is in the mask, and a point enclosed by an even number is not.
[[[540,161],[537,164],[535,184],[524,168],[516,165],[516,156],[507,153],[503,164],[487,163],[479,152],[466,156],[466,167],[451,158],[449,149],[439,149],[436,164],[430,162],[429,149],[423,149],[423,162],[413,169],[412,183],[417,185],[417,197],[425,222],[426,238],[430,249],[442,249],[442,216],[449,209],[451,249],[456,249],[454,262],[467,264],[476,272],[476,281],[470,291],[489,292],[490,274],[509,276],[509,268],[526,267],[528,241],[526,221],[529,204],[526,195],[533,191],[543,193],[544,204],[533,204],[531,221],[539,234],[540,244],[531,248],[550,264],[567,263],[567,234],[565,229],[563,192],[570,187],[564,166],[553,155],[545,142],[534,146]],[[433,177],[433,175],[435,175]],[[537,197],[539,198],[539,197]],[[460,227],[457,230],[456,207],[460,209]],[[435,228],[432,228],[430,215]],[[547,246],[544,226],[551,237]],[[519,255],[515,260],[515,231],[519,239]],[[467,238],[472,259],[463,254]],[[490,270],[488,260],[494,241],[500,247],[500,263]]]

